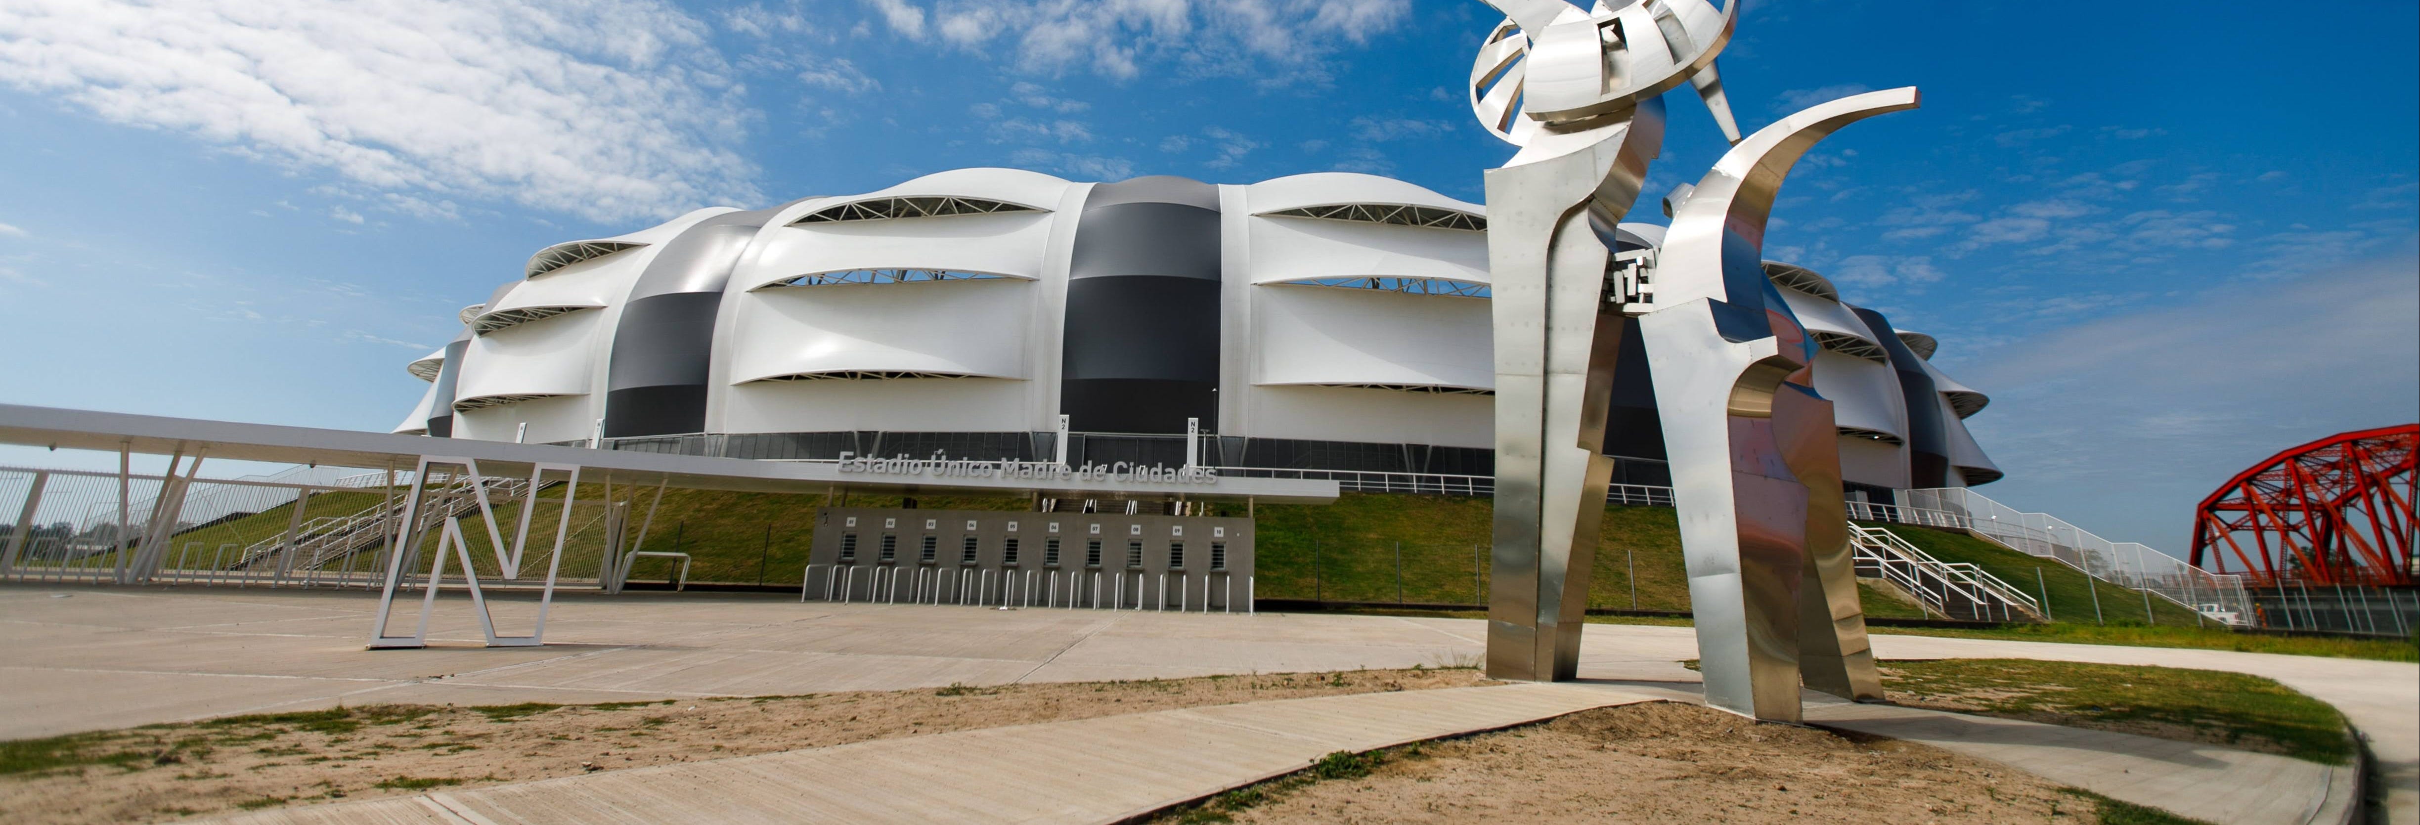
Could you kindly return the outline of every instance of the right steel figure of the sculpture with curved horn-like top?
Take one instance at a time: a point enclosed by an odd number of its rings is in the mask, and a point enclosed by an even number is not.
[[[1634,305],[1663,411],[1706,704],[1798,721],[1798,682],[1878,699],[1846,561],[1832,402],[1815,346],[1764,278],[1781,179],[1854,121],[1914,109],[1917,90],[1817,104],[1740,140],[1672,206],[1655,295]]]

